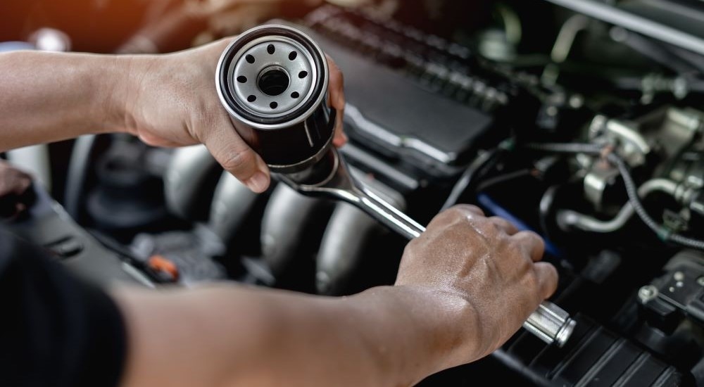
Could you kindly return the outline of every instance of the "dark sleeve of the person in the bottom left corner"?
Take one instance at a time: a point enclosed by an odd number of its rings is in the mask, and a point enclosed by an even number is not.
[[[106,293],[0,229],[0,386],[117,386],[125,343]]]

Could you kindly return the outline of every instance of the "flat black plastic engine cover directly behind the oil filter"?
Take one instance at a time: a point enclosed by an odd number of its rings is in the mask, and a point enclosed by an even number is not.
[[[337,23],[337,19],[331,20],[329,23]],[[367,23],[372,22],[367,20]],[[467,160],[463,156],[494,125],[494,118],[482,110],[431,91],[419,79],[382,63],[381,58],[386,55],[384,47],[394,46],[392,37],[372,38],[370,34],[370,39],[375,39],[370,44],[380,50],[370,53],[340,44],[336,39],[342,37],[329,35],[320,28],[310,34],[344,73],[346,130],[359,144],[421,170],[430,169],[435,175],[453,175],[458,171],[456,166]],[[429,41],[431,38],[427,37]],[[431,56],[438,61],[437,66],[428,58],[419,59],[421,63],[445,71],[446,56],[452,55],[442,50],[449,50],[448,47],[441,50],[416,44],[419,58]],[[459,65],[459,59],[455,65]],[[462,71],[458,70],[458,74]]]

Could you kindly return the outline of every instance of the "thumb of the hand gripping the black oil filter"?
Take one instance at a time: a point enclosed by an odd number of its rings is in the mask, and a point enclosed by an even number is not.
[[[269,188],[271,181],[269,167],[264,160],[244,140],[230,122],[221,122],[218,129],[206,131],[208,151],[222,167],[237,177],[253,192],[261,193]]]

